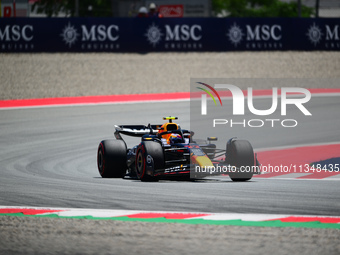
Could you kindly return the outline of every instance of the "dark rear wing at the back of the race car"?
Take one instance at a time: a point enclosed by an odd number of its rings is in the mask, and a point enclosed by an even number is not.
[[[134,136],[134,137],[142,137],[147,134],[156,134],[158,129],[162,125],[115,125],[115,137],[117,139],[122,139],[120,134]]]

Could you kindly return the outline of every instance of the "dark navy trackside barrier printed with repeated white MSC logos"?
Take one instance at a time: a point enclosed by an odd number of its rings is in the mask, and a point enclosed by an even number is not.
[[[1,18],[0,52],[340,50],[336,18]]]

